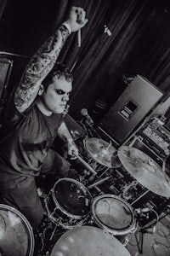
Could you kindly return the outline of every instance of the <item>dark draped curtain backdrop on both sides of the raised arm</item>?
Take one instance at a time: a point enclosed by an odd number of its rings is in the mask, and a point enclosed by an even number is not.
[[[8,21],[6,47],[32,55],[55,27],[65,20],[72,5],[86,9],[88,24],[82,30],[82,46],[72,34],[59,55],[74,74],[70,113],[78,119],[80,110],[94,108],[102,99],[107,107],[124,90],[122,74],[139,73],[159,90],[169,94],[170,4],[164,0],[18,0],[19,14]],[[11,4],[13,3],[13,4]],[[19,4],[18,3],[18,4]],[[10,12],[16,1],[8,0]],[[18,20],[18,23],[16,23]],[[23,22],[25,20],[25,23]],[[20,21],[20,22],[19,22]],[[16,23],[16,24],[15,24]],[[10,29],[20,27],[18,41]],[[19,25],[20,24],[20,25]],[[105,25],[111,36],[105,33]],[[15,29],[16,30],[16,29]],[[11,33],[11,38],[9,34]],[[20,35],[19,35],[20,34]],[[5,37],[4,37],[5,38]],[[19,43],[20,40],[20,43]],[[19,48],[20,45],[20,48]],[[2,40],[0,39],[2,48]],[[9,47],[10,47],[9,46]],[[18,48],[17,48],[18,47]]]

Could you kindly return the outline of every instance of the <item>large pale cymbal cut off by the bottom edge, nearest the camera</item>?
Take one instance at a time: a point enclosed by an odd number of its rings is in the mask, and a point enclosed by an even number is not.
[[[51,256],[130,256],[127,249],[114,236],[92,226],[76,227],[60,236]]]

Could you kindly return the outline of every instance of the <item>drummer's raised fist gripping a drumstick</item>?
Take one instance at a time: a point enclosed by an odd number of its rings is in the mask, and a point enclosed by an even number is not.
[[[65,20],[65,22],[71,26],[72,32],[77,32],[88,22],[88,19],[86,19],[86,12],[81,7],[73,6],[68,15],[68,20]]]

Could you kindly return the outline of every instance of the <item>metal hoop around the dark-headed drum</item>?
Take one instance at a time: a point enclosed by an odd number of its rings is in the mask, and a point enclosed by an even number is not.
[[[69,217],[71,217],[71,218],[81,219],[81,218],[83,218],[83,217],[86,217],[86,216],[88,215],[88,213],[86,213],[86,214],[84,214],[84,215],[74,215],[74,214],[71,214],[71,212],[67,212],[63,207],[61,207],[61,206],[59,205],[59,202],[57,201],[56,196],[55,196],[55,186],[57,185],[57,183],[59,183],[59,182],[62,181],[62,180],[66,180],[66,181],[70,181],[70,182],[74,181],[75,183],[77,183],[77,184],[79,184],[80,186],[82,186],[83,189],[85,189],[85,190],[88,191],[88,189],[87,189],[82,183],[80,183],[79,181],[77,181],[77,180],[75,180],[75,179],[73,179],[73,178],[70,178],[70,177],[63,177],[63,178],[60,178],[56,183],[54,183],[54,187],[53,187],[53,189],[51,190],[51,191],[52,191],[52,197],[53,197],[53,200],[54,200],[55,205],[59,208],[59,210],[60,210],[61,212],[64,212],[65,215],[67,215],[67,216],[69,216]],[[91,199],[92,199],[92,195],[90,194],[89,191],[88,191],[88,195],[89,195],[89,196],[91,197]],[[89,210],[89,212],[90,212],[90,210]]]

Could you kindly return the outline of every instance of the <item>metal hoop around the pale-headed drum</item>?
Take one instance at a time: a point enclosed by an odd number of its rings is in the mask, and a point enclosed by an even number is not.
[[[103,199],[103,198],[114,198],[116,199],[117,201],[121,201],[122,203],[124,203],[128,209],[130,210],[131,212],[131,216],[132,216],[132,222],[131,224],[129,224],[129,227],[127,227],[126,229],[124,230],[114,230],[114,229],[111,229],[110,227],[106,226],[105,224],[103,224],[98,216],[96,215],[95,213],[95,205],[96,205],[96,202],[98,202],[100,199]],[[120,198],[119,196],[117,195],[111,195],[111,194],[105,194],[105,195],[99,195],[97,197],[94,198],[94,201],[92,202],[92,213],[93,213],[93,217],[95,219],[95,221],[97,222],[97,224],[99,224],[99,226],[104,229],[104,230],[108,230],[111,234],[113,235],[126,235],[128,233],[130,233],[132,230],[135,230],[135,219],[134,219],[134,214],[133,214],[133,210],[132,210],[132,207],[127,203],[127,201],[124,201],[122,198]]]

